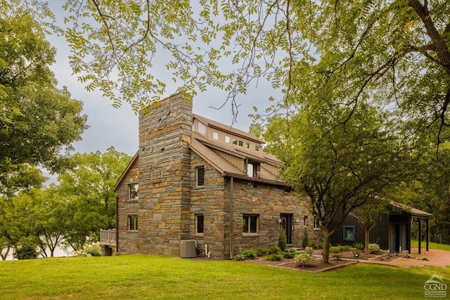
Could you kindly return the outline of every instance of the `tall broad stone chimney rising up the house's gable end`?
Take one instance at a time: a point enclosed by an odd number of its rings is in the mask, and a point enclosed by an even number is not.
[[[178,256],[189,237],[191,128],[183,93],[139,112],[139,253]]]

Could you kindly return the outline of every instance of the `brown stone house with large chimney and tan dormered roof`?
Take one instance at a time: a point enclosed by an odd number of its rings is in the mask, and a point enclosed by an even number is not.
[[[139,150],[115,185],[117,253],[188,257],[189,242],[196,254],[232,259],[276,245],[280,226],[292,247],[304,226],[320,240],[281,167],[250,133],[194,115],[190,96],[161,100],[139,112]]]

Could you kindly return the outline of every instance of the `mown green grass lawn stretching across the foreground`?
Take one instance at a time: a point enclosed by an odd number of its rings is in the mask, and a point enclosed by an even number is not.
[[[0,262],[1,299],[423,299],[450,267],[367,263],[311,274],[238,261],[124,255]]]

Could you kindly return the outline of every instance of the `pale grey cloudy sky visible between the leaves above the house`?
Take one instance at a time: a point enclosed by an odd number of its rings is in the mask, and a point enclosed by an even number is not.
[[[56,4],[58,2],[56,1]],[[53,6],[55,3],[53,2]],[[60,4],[59,4],[60,5]],[[58,22],[63,20],[64,11],[62,8],[56,8],[56,15]],[[138,148],[138,117],[136,113],[129,107],[127,103],[124,103],[122,107],[116,109],[113,108],[112,102],[108,98],[102,97],[100,92],[88,92],[84,89],[84,85],[81,84],[77,77],[72,74],[72,70],[69,65],[68,56],[70,50],[64,37],[49,37],[51,44],[57,49],[56,63],[53,65],[53,72],[58,79],[58,86],[67,86],[72,98],[82,100],[84,103],[84,114],[87,115],[87,129],[83,136],[82,141],[75,143],[76,152],[95,152],[100,150],[105,152],[107,148],[113,146],[120,152],[126,152],[128,155],[134,155]],[[165,53],[158,53],[158,55],[164,55]],[[166,55],[169,55],[166,53]],[[159,70],[149,70],[149,72],[158,72]],[[167,94],[176,91],[177,86],[170,86],[170,79],[166,79]],[[267,99],[269,96],[275,96],[276,92],[271,89],[269,84],[259,85],[253,84],[250,87],[247,95],[238,96],[239,114],[237,123],[233,124],[234,127],[248,131],[250,125],[250,118],[248,114],[253,112],[252,107],[257,106],[259,110],[264,110],[269,105]],[[210,89],[207,93],[198,94],[194,98],[193,112],[214,119],[217,122],[224,123],[226,125],[232,124],[231,116],[231,104],[227,103],[221,110],[215,110],[212,107],[219,107],[226,100],[226,93],[219,90]]]

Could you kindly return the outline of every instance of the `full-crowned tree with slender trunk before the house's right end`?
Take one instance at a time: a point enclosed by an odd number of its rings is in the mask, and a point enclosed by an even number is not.
[[[321,99],[292,119],[272,118],[264,133],[266,149],[285,164],[283,177],[309,199],[323,232],[326,263],[330,236],[349,213],[383,195],[401,174],[400,143],[383,124],[385,117],[359,105],[343,122],[348,110],[324,107]]]

